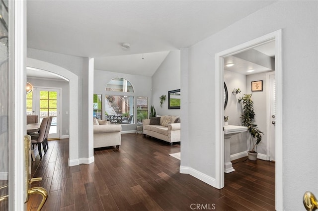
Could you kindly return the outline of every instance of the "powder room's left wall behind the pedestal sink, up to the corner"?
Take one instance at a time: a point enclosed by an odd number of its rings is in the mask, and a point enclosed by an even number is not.
[[[242,106],[239,104],[238,99],[239,97],[242,97],[243,94],[246,94],[246,76],[225,70],[224,82],[227,85],[229,95],[228,105],[224,110],[224,115],[229,116],[229,124],[242,125],[239,118],[242,114]],[[241,93],[233,95],[232,91],[238,88],[241,90]],[[230,154],[234,155],[237,153],[246,152],[246,140],[247,132],[233,135],[230,138]]]

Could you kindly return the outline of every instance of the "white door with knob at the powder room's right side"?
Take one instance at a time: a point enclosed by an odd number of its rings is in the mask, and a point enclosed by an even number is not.
[[[269,75],[270,83],[270,160],[275,160],[275,74]]]

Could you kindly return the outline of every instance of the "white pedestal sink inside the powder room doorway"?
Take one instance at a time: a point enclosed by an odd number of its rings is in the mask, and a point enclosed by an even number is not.
[[[231,162],[230,138],[233,135],[247,131],[247,127],[238,125],[224,125],[224,172],[231,173],[235,171]]]

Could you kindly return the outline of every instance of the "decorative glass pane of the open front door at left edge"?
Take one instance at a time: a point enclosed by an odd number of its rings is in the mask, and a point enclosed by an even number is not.
[[[7,1],[5,1],[7,3]],[[0,210],[8,210],[8,10],[0,1]]]

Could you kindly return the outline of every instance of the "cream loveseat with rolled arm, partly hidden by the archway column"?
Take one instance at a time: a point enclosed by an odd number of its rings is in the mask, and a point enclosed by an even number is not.
[[[94,118],[94,148],[121,145],[121,125]]]

